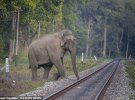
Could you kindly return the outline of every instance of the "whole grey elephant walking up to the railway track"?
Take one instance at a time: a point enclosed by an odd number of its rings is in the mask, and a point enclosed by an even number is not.
[[[77,80],[75,38],[69,30],[53,33],[32,42],[28,49],[29,68],[32,70],[32,80],[37,80],[37,69],[44,68],[44,79],[48,79],[53,65],[58,70],[57,79],[65,77],[63,57],[66,51],[71,54],[73,71]]]

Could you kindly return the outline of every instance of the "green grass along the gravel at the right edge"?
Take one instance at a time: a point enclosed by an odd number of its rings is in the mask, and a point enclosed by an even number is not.
[[[135,90],[135,61],[126,61],[125,66],[130,79],[129,85],[133,90]],[[130,100],[135,100],[135,95],[131,95],[129,98]]]

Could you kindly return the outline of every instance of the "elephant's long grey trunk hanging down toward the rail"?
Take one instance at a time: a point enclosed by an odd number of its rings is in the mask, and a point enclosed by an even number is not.
[[[79,75],[78,75],[78,71],[76,68],[76,48],[75,47],[70,50],[70,54],[71,54],[72,66],[73,66],[74,73],[76,75],[77,80],[79,80]]]

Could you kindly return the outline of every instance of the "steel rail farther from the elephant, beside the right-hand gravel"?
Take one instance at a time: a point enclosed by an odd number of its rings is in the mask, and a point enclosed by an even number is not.
[[[105,91],[107,90],[108,86],[110,85],[112,79],[113,79],[113,76],[115,75],[115,72],[119,66],[119,63],[116,63],[115,68],[114,70],[111,72],[111,74],[109,75],[109,78],[107,79],[107,81],[104,83],[103,87],[100,89],[100,91],[98,92],[98,94],[96,95],[95,99],[94,100],[102,100],[104,94],[105,94]]]

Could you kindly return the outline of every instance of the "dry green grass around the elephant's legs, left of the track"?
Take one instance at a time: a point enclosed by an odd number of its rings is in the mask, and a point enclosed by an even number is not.
[[[99,60],[98,63],[103,60]],[[76,66],[79,72],[89,69],[96,65],[92,59],[87,59],[84,63],[81,63],[81,58],[77,57]],[[4,65],[4,64],[3,64]],[[71,58],[66,55],[64,57],[64,69],[66,75],[74,75]],[[18,65],[15,67],[14,63],[10,65],[10,80],[5,79],[5,72],[0,72],[0,96],[16,96],[21,93],[29,92],[39,86],[42,86],[45,83],[45,80],[42,80],[43,68],[38,70],[38,80],[31,81],[31,70],[28,68],[28,59],[27,56],[21,54],[21,57],[18,58]],[[53,80],[54,74],[57,73],[56,67],[53,66],[49,74],[49,80]],[[15,80],[15,85],[13,83]]]

